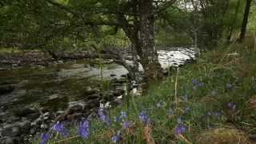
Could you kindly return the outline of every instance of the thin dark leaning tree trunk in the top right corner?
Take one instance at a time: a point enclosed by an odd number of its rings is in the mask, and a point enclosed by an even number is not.
[[[241,33],[240,33],[240,37],[238,39],[239,42],[242,42],[246,36],[246,26],[247,26],[249,14],[250,14],[250,3],[251,2],[252,2],[252,0],[246,0],[246,7],[245,7],[245,12],[243,14]]]

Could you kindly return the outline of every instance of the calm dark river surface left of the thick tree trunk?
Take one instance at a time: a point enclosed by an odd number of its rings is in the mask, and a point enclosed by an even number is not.
[[[53,109],[66,107],[68,102],[84,98],[86,87],[99,86],[99,74],[98,65],[86,61],[0,71],[0,83],[17,84],[14,92],[0,95],[0,104],[11,108],[38,102]],[[104,65],[104,78],[111,78],[110,74],[121,78],[127,70],[116,64]],[[54,94],[58,98],[52,98]]]

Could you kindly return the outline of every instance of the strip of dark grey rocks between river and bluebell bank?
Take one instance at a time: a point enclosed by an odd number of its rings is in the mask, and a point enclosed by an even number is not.
[[[124,76],[125,77],[125,76]],[[0,111],[0,143],[28,143],[34,134],[50,129],[55,122],[77,122],[81,118],[94,117],[98,107],[115,106],[122,104],[122,95],[125,93],[126,80],[114,79],[111,81],[111,90],[102,92],[99,87],[87,87],[85,97],[79,101],[70,102],[66,110],[54,111],[40,105],[30,105],[14,110],[11,113]],[[48,101],[62,101],[62,96],[53,94]]]

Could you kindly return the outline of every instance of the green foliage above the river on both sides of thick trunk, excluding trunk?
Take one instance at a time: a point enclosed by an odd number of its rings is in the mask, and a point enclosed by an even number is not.
[[[225,42],[233,27],[237,34],[242,23],[245,2],[240,0],[200,1],[195,9],[182,0],[157,14],[156,45],[187,46],[198,37],[198,45],[214,47]],[[186,4],[187,3],[187,4]],[[254,6],[252,6],[252,12]],[[118,24],[118,13],[126,13],[126,20],[133,24],[135,17],[130,2],[117,0],[58,0],[34,2],[4,1],[0,5],[0,45],[24,49],[86,50],[94,38],[101,38],[108,45],[128,46],[130,41]],[[250,28],[254,29],[254,15],[250,14]],[[102,24],[100,24],[102,23]],[[107,23],[111,23],[109,26]],[[121,23],[119,23],[121,24]],[[197,33],[197,34],[195,34]]]

